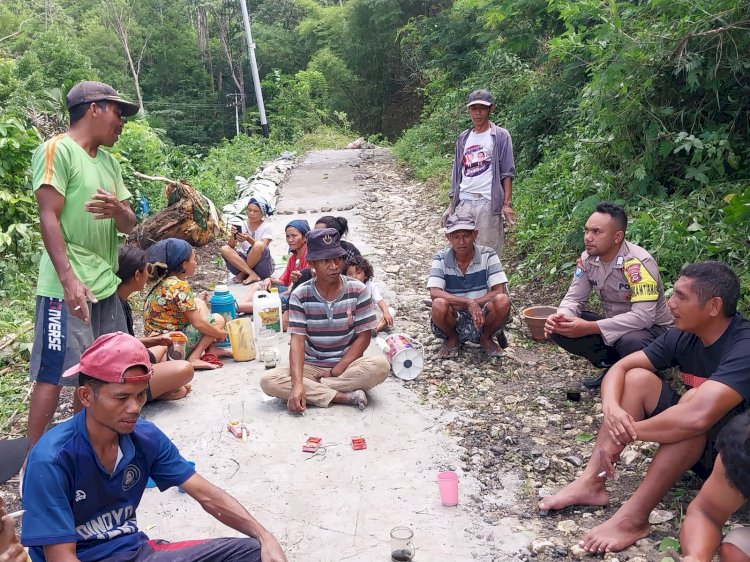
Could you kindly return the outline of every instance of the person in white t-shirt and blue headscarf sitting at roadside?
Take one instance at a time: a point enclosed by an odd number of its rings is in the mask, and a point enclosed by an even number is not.
[[[267,279],[275,264],[271,257],[271,227],[265,221],[273,210],[260,196],[247,203],[247,222],[232,225],[227,243],[221,247],[221,257],[234,274],[235,283],[249,285]]]

